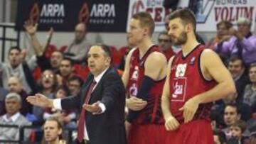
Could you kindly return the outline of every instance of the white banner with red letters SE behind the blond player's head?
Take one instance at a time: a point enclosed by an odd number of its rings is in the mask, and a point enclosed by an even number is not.
[[[171,9],[165,9],[163,3],[164,0],[130,0],[127,28],[134,13],[147,11],[155,21],[155,31],[164,31],[164,18],[171,13]]]

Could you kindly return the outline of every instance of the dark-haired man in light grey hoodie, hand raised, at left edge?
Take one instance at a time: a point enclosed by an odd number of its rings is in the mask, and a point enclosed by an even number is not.
[[[0,72],[3,87],[8,87],[8,79],[12,76],[18,77],[24,90],[31,94],[37,92],[36,83],[33,81],[31,70],[36,67],[36,57],[26,62],[21,60],[21,49],[11,47],[8,52],[9,63],[0,62]]]

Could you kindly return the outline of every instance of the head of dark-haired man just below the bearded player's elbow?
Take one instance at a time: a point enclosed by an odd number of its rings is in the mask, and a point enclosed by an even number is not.
[[[224,122],[227,126],[231,126],[235,121],[240,120],[240,109],[236,104],[226,104],[224,109]]]

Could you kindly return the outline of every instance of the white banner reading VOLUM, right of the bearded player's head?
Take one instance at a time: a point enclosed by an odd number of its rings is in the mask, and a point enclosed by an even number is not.
[[[216,31],[219,21],[236,24],[240,17],[250,19],[251,28],[255,27],[255,0],[200,0],[197,6],[197,31]]]

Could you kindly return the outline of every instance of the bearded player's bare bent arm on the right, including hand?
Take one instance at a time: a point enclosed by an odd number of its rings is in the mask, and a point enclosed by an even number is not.
[[[201,70],[206,79],[214,79],[218,84],[213,89],[194,96],[184,104],[180,110],[183,111],[185,123],[193,119],[199,104],[216,101],[228,94],[235,93],[235,84],[230,72],[228,72],[220,57],[213,50],[206,49],[203,51],[201,55]]]

